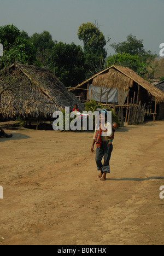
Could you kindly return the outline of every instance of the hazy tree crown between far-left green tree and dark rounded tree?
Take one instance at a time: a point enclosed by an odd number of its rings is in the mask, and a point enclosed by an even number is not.
[[[34,33],[30,41],[34,44],[37,51],[37,59],[46,65],[46,60],[51,49],[54,47],[55,43],[52,40],[52,36],[48,31],[43,31],[43,33]]]

